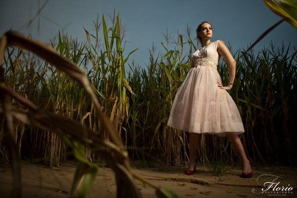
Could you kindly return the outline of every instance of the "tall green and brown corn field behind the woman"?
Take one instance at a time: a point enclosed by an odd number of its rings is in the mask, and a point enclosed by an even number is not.
[[[149,54],[148,70],[128,64],[123,56],[123,29],[115,18],[108,28],[94,21],[94,32],[86,32],[86,41],[59,32],[52,49],[84,70],[104,113],[119,134],[129,157],[156,163],[183,165],[188,161],[189,134],[166,126],[175,93],[191,68],[191,55],[197,46],[187,35],[179,34],[174,49],[165,37],[166,53],[161,57]],[[118,28],[115,28],[118,27]],[[99,30],[102,28],[102,36]],[[100,37],[101,36],[101,37]],[[100,43],[103,41],[102,43]],[[187,46],[186,46],[187,45]],[[229,47],[231,49],[231,47]],[[291,47],[292,48],[292,47]],[[237,61],[235,84],[229,91],[243,119],[245,131],[241,138],[253,163],[296,164],[297,67],[293,46],[262,49],[258,54],[249,50],[234,55]],[[187,50],[187,51],[186,51]],[[126,68],[131,72],[126,75]],[[87,91],[49,62],[25,49],[9,46],[3,57],[4,82],[40,109],[73,119],[102,137],[99,115]],[[228,67],[218,65],[223,82],[228,82]],[[24,106],[12,100],[12,105]],[[1,120],[3,116],[1,115]],[[66,159],[75,160],[57,134],[30,127],[13,120],[13,138],[21,159],[41,158],[49,166],[59,166]],[[3,144],[4,123],[1,121],[0,159],[9,161]],[[103,160],[96,151],[84,149],[90,162]],[[238,163],[239,157],[226,138],[202,135],[198,146],[198,161],[222,159]]]

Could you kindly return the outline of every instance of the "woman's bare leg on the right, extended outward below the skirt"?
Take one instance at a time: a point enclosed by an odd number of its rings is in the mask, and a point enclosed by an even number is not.
[[[243,146],[238,134],[226,133],[226,136],[227,136],[229,142],[231,143],[232,147],[240,155],[240,158],[243,163],[243,172],[249,173],[251,171],[251,166],[249,164],[244,146]]]

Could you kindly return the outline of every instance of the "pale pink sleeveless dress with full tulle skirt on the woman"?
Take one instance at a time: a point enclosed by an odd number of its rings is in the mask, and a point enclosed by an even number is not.
[[[195,67],[188,72],[173,100],[167,125],[199,134],[225,137],[245,132],[239,110],[229,93],[218,87],[219,40],[193,53]],[[223,85],[223,84],[222,84]]]

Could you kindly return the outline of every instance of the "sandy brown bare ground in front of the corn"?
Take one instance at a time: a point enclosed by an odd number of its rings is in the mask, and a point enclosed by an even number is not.
[[[76,163],[61,163],[60,167],[49,168],[40,163],[22,161],[22,194],[24,198],[67,198],[71,189]],[[157,166],[143,167],[141,162],[131,163],[134,170],[143,178],[155,185],[162,186],[175,192],[180,198],[251,198],[251,197],[283,197],[297,198],[297,167],[273,166],[253,167],[253,177],[240,178],[240,167],[228,167],[228,171],[221,177],[212,175],[207,168],[197,166],[196,174],[184,174],[186,167]],[[271,175],[285,175],[277,179],[277,187],[293,187],[293,191],[266,191],[261,193],[265,182],[272,182]],[[257,181],[257,177],[258,181]],[[156,198],[155,191],[147,184],[136,180],[138,188],[144,198]],[[11,168],[0,166],[0,197],[9,197],[12,190]],[[254,191],[253,191],[254,190]],[[253,192],[257,193],[254,194]],[[96,180],[88,198],[115,198],[116,186],[112,169],[99,167]]]

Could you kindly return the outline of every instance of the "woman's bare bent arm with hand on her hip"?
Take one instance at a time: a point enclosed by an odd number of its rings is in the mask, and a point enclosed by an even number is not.
[[[219,40],[217,51],[221,54],[221,56],[224,58],[224,61],[228,64],[229,83],[233,83],[235,79],[236,60],[222,40]],[[232,87],[232,85],[230,85],[230,87]]]

